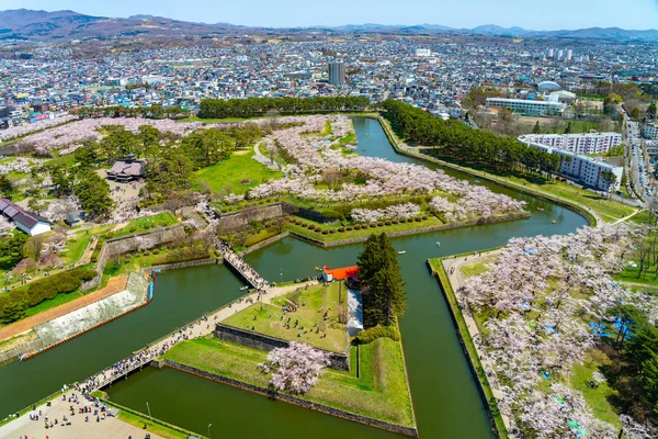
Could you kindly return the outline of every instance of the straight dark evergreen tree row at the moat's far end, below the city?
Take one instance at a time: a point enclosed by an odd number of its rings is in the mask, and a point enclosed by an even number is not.
[[[249,98],[205,99],[201,102],[198,116],[203,119],[253,117],[266,114],[305,114],[364,111],[367,98]]]

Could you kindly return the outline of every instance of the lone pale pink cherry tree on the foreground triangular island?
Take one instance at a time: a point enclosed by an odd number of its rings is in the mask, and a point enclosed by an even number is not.
[[[287,348],[276,348],[261,363],[264,373],[272,373],[270,383],[282,392],[306,393],[318,382],[329,365],[326,352],[306,344],[291,341]]]

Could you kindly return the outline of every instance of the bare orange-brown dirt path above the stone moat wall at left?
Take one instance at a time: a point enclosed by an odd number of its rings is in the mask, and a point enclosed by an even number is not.
[[[82,297],[76,299],[75,301],[65,303],[64,305],[59,305],[48,311],[44,311],[43,313],[38,313],[32,317],[24,318],[3,328],[0,328],[0,341],[26,333],[35,326],[53,320],[57,317],[61,317],[63,315],[71,313],[76,309],[80,309],[81,307],[109,297],[112,294],[116,294],[120,291],[124,291],[126,289],[127,282],[127,274],[121,274],[115,278],[110,278],[107,286],[101,290],[94,291],[93,293],[83,295]]]

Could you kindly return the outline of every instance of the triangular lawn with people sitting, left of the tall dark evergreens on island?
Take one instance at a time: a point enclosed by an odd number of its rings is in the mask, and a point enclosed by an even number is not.
[[[345,352],[347,327],[338,320],[339,291],[341,303],[344,304],[345,286],[342,282],[332,282],[329,286],[317,285],[276,297],[272,304],[263,304],[262,311],[260,303],[253,304],[223,323],[285,340],[306,342],[333,352]],[[302,306],[293,313],[284,313],[282,306],[291,306],[292,303]],[[325,320],[324,311],[327,309],[330,311]],[[287,322],[290,328],[286,326]],[[298,322],[296,328],[295,322]]]

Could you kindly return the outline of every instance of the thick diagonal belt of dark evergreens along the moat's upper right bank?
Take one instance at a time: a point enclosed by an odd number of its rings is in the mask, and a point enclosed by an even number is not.
[[[474,130],[460,121],[443,121],[412,105],[387,100],[384,116],[408,143],[438,146],[446,157],[494,172],[536,172],[551,175],[559,169],[560,157],[530,147],[513,137]]]

